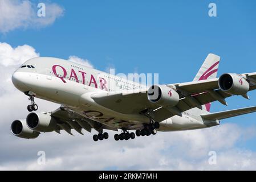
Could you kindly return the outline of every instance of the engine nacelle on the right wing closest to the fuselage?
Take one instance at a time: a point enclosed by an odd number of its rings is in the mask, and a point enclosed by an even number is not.
[[[148,100],[160,106],[176,106],[180,100],[178,93],[165,85],[152,85],[148,89]]]

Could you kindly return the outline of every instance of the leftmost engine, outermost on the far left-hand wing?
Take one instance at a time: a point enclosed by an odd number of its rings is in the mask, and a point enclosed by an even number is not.
[[[11,123],[11,133],[20,138],[37,138],[40,134],[38,131],[29,129],[26,125],[25,119],[15,120]]]

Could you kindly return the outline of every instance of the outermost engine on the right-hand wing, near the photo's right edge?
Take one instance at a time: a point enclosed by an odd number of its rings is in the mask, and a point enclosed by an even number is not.
[[[246,94],[250,88],[249,82],[242,75],[225,73],[218,80],[220,89],[233,95]]]

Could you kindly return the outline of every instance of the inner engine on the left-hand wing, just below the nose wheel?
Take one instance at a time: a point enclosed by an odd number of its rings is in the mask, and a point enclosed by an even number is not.
[[[30,113],[26,123],[29,129],[39,132],[51,132],[57,126],[56,120],[49,113]]]

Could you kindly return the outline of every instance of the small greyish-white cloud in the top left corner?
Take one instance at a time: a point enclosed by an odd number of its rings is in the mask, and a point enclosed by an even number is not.
[[[6,33],[17,28],[46,27],[64,12],[56,3],[46,3],[45,17],[38,17],[38,10],[37,5],[29,0],[0,0],[0,32]]]

